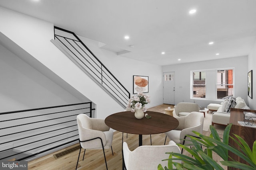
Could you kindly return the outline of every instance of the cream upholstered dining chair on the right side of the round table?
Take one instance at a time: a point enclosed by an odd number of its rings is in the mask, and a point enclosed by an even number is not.
[[[191,143],[189,141],[183,140],[190,140],[190,138],[186,138],[186,135],[195,136],[195,134],[192,131],[197,131],[199,133],[202,133],[203,131],[204,115],[200,112],[193,111],[186,116],[176,117],[176,119],[178,119],[179,121],[178,127],[176,127],[174,130],[165,133],[166,137],[168,137],[175,143],[180,143],[182,145]],[[166,137],[164,145],[166,142]]]

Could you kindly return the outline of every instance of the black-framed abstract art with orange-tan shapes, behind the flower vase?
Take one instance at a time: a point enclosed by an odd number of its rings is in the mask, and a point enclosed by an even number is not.
[[[148,93],[148,76],[133,76],[133,94]]]

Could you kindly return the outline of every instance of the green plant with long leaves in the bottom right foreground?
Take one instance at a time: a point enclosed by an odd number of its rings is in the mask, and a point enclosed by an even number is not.
[[[210,136],[202,135],[196,131],[193,131],[197,137],[187,135],[191,139],[188,141],[191,141],[192,144],[177,144],[179,147],[189,152],[192,157],[186,156],[184,154],[167,152],[166,154],[170,154],[170,156],[168,159],[163,161],[168,161],[168,168],[166,166],[163,168],[162,165],[159,164],[158,170],[173,170],[174,168],[172,165],[176,167],[176,170],[224,170],[220,164],[213,160],[213,152],[218,154],[223,159],[223,161],[220,161],[223,166],[229,166],[243,170],[256,170],[256,141],[254,141],[251,150],[244,139],[235,134],[234,136],[236,139],[229,135],[231,126],[232,124],[229,124],[225,128],[223,139],[219,137],[216,129],[212,125],[210,126]],[[228,145],[229,138],[239,145],[239,150]],[[206,147],[206,149],[203,150],[201,146]],[[248,162],[249,165],[233,160],[228,156],[228,151],[238,155],[240,158]],[[228,158],[230,158],[230,160],[228,160]],[[173,162],[173,160],[182,160],[182,163],[180,164]]]

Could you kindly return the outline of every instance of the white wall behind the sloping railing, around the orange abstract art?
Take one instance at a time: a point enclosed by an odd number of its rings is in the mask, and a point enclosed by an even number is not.
[[[112,51],[100,49],[98,42],[79,36],[96,57],[114,74],[114,76],[133,94],[133,75],[148,76],[148,93],[151,103],[146,107],[162,104],[162,66],[128,59]]]

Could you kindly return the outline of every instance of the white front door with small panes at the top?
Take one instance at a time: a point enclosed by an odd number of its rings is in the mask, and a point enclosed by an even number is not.
[[[175,72],[164,72],[164,104],[175,105]]]

